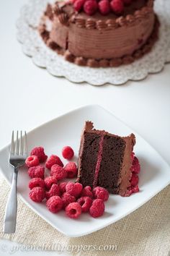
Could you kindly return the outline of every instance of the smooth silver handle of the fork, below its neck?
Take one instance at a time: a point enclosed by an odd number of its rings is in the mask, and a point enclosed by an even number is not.
[[[4,218],[4,233],[11,234],[15,232],[17,218],[17,168],[14,169],[12,177],[12,187],[9,198],[6,203],[6,211]]]

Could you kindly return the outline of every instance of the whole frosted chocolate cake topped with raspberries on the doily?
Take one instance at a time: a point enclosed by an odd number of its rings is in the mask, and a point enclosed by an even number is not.
[[[81,66],[118,67],[151,50],[158,37],[154,0],[56,1],[40,22],[45,43]]]

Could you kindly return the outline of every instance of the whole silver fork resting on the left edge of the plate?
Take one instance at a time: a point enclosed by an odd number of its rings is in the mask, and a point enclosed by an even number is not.
[[[24,164],[27,158],[27,134],[17,131],[17,140],[14,142],[14,131],[12,132],[12,143],[9,154],[9,164],[14,168],[12,177],[12,187],[6,203],[4,218],[4,233],[11,234],[15,232],[17,218],[17,174],[19,167]]]

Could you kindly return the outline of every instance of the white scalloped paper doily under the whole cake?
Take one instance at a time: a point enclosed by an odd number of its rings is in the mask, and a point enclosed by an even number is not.
[[[30,0],[27,5],[22,7],[19,20],[17,20],[17,38],[22,43],[24,54],[32,57],[33,63],[38,67],[46,68],[50,74],[66,77],[71,82],[88,82],[91,85],[104,85],[105,83],[121,85],[128,80],[143,80],[149,73],[160,72],[164,64],[170,61],[169,0],[155,1],[155,10],[161,27],[159,40],[153,46],[152,51],[133,64],[116,68],[79,67],[50,50],[37,32],[40,17],[49,2],[53,2],[53,0]]]

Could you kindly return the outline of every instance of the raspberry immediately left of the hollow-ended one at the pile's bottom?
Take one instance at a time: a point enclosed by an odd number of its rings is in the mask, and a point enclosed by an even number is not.
[[[52,213],[58,213],[63,208],[63,201],[58,195],[50,197],[46,203],[48,210]]]

